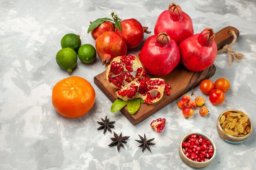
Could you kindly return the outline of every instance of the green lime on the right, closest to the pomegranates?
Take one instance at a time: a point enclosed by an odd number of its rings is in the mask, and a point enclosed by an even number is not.
[[[84,44],[78,50],[78,57],[84,63],[91,63],[96,58],[96,49],[91,44]]]

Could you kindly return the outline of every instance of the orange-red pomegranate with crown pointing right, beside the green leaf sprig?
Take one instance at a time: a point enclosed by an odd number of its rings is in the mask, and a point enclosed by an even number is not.
[[[121,31],[117,28],[117,32],[121,33],[127,42],[128,49],[134,49],[138,46],[143,38],[144,33],[151,33],[151,31],[147,31],[148,27],[144,27],[141,23],[134,19],[122,20],[121,24]]]

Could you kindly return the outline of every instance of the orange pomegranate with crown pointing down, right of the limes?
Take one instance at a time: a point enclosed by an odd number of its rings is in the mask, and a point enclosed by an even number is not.
[[[106,65],[115,57],[125,55],[127,52],[125,38],[115,31],[106,31],[101,34],[96,39],[95,47],[102,64]]]

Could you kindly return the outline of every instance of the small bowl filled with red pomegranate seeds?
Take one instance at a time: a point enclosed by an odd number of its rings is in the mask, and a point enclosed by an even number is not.
[[[203,168],[214,159],[216,146],[209,136],[200,132],[190,132],[182,138],[179,154],[189,166]]]

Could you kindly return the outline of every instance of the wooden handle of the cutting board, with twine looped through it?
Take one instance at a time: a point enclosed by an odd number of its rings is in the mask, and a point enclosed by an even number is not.
[[[215,34],[214,40],[218,46],[218,49],[220,49],[222,46],[225,46],[226,44],[229,44],[232,42],[234,37],[232,34],[229,33],[229,31],[231,31],[231,30],[236,33],[236,35],[237,35],[236,39],[238,39],[239,31],[238,31],[238,29],[236,29],[233,26],[227,26]]]

